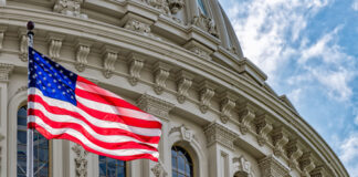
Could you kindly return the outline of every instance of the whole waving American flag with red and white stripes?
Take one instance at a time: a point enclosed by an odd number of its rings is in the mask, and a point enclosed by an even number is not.
[[[161,122],[29,49],[28,127],[122,160],[158,162]]]

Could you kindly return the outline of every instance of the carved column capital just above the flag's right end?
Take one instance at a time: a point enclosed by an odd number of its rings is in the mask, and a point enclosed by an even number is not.
[[[169,112],[175,107],[172,103],[148,94],[143,94],[138,98],[137,105],[140,110],[166,121],[169,119]]]

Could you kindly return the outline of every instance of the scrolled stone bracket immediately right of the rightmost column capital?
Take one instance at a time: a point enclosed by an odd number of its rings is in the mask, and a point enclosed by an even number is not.
[[[298,158],[303,155],[302,145],[298,139],[289,139],[286,145],[286,152],[288,157],[288,167],[298,168]]]

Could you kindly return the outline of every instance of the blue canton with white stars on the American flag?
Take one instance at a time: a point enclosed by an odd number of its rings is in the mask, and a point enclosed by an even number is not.
[[[45,96],[77,105],[76,81],[75,73],[29,48],[29,87],[39,88]]]

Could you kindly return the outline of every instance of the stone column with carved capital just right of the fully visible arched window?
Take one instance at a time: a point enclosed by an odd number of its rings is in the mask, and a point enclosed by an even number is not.
[[[228,127],[214,122],[204,128],[209,153],[209,176],[227,177],[230,176],[230,163],[233,142],[239,136]]]

